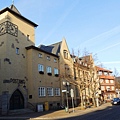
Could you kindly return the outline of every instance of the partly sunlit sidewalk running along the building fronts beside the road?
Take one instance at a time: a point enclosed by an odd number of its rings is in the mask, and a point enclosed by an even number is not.
[[[20,115],[0,116],[0,120],[60,120],[87,114],[97,110],[102,110],[110,106],[111,103],[104,103],[101,106],[90,107],[84,110],[81,110],[80,107],[75,107],[74,109],[70,108],[69,112],[66,112],[65,110],[57,110],[57,111],[33,112]]]

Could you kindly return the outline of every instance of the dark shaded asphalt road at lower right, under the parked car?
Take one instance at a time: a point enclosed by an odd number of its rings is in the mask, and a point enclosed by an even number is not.
[[[120,120],[120,105],[60,120]]]

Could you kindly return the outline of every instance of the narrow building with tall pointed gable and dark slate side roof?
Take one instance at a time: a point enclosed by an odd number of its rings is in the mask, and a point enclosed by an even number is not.
[[[58,43],[48,46],[40,45],[39,48],[59,56],[59,78],[61,82],[61,90],[70,92],[70,89],[74,89],[75,91],[75,86],[71,83],[71,80],[74,79],[73,59],[71,58],[65,38],[63,38],[62,41]],[[67,93],[67,99],[66,92],[62,92],[62,105],[72,106],[70,93]],[[76,94],[74,97],[74,102],[75,105],[77,105]]]

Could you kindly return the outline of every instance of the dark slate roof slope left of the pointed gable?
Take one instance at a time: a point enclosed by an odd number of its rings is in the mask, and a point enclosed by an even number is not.
[[[62,41],[55,44],[48,45],[48,46],[40,45],[39,48],[46,52],[58,55],[58,53],[60,53],[61,43]]]

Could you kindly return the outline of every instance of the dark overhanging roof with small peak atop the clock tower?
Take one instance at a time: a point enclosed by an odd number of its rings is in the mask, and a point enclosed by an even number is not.
[[[4,9],[0,10],[0,14],[4,13],[6,11],[10,12],[11,14],[13,14],[16,17],[19,17],[20,19],[25,20],[26,22],[28,22],[29,24],[33,25],[34,27],[38,26],[34,22],[32,22],[32,21],[28,20],[27,18],[25,18],[24,16],[22,16],[14,5],[11,5],[10,7],[6,7]]]

